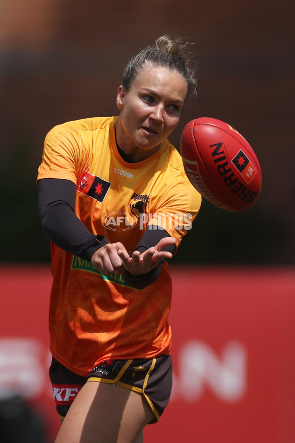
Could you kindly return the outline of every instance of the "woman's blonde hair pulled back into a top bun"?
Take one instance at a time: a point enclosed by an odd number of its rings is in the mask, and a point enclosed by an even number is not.
[[[179,72],[185,79],[188,90],[192,92],[192,95],[196,95],[197,79],[188,45],[189,43],[184,42],[180,37],[172,38],[169,35],[162,35],[157,38],[153,46],[147,46],[126,64],[122,79],[125,91],[129,90],[138,72],[148,62],[154,66],[163,66]]]

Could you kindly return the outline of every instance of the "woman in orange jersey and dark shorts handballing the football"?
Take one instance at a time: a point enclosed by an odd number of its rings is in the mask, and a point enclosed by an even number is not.
[[[68,122],[45,140],[38,195],[52,240],[50,377],[67,414],[57,443],[142,442],[169,401],[166,259],[201,204],[167,139],[196,86],[184,46],[163,36],[131,59],[118,117]]]

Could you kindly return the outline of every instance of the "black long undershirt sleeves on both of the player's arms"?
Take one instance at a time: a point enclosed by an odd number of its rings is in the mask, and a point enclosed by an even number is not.
[[[49,239],[59,248],[91,261],[95,251],[105,246],[108,241],[101,235],[93,235],[74,213],[76,186],[70,180],[42,179],[38,182],[38,206],[42,228]],[[155,226],[148,226],[140,243],[135,248],[141,253],[155,246],[161,238],[169,237],[167,231]],[[175,246],[165,249],[175,252]],[[160,263],[148,274],[134,276],[128,271],[125,282],[137,289],[143,289],[155,282],[161,271]]]

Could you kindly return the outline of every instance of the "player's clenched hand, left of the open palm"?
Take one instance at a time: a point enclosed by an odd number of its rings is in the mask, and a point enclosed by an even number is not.
[[[115,273],[115,275],[123,274],[123,262],[118,255],[118,251],[128,255],[128,252],[120,242],[108,243],[102,246],[92,255],[91,265],[106,277],[109,277],[112,273]]]

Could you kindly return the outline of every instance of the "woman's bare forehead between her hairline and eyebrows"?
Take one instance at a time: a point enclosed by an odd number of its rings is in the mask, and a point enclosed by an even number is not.
[[[175,69],[147,64],[134,78],[130,90],[154,92],[167,95],[171,99],[184,101],[188,86],[184,77]]]

